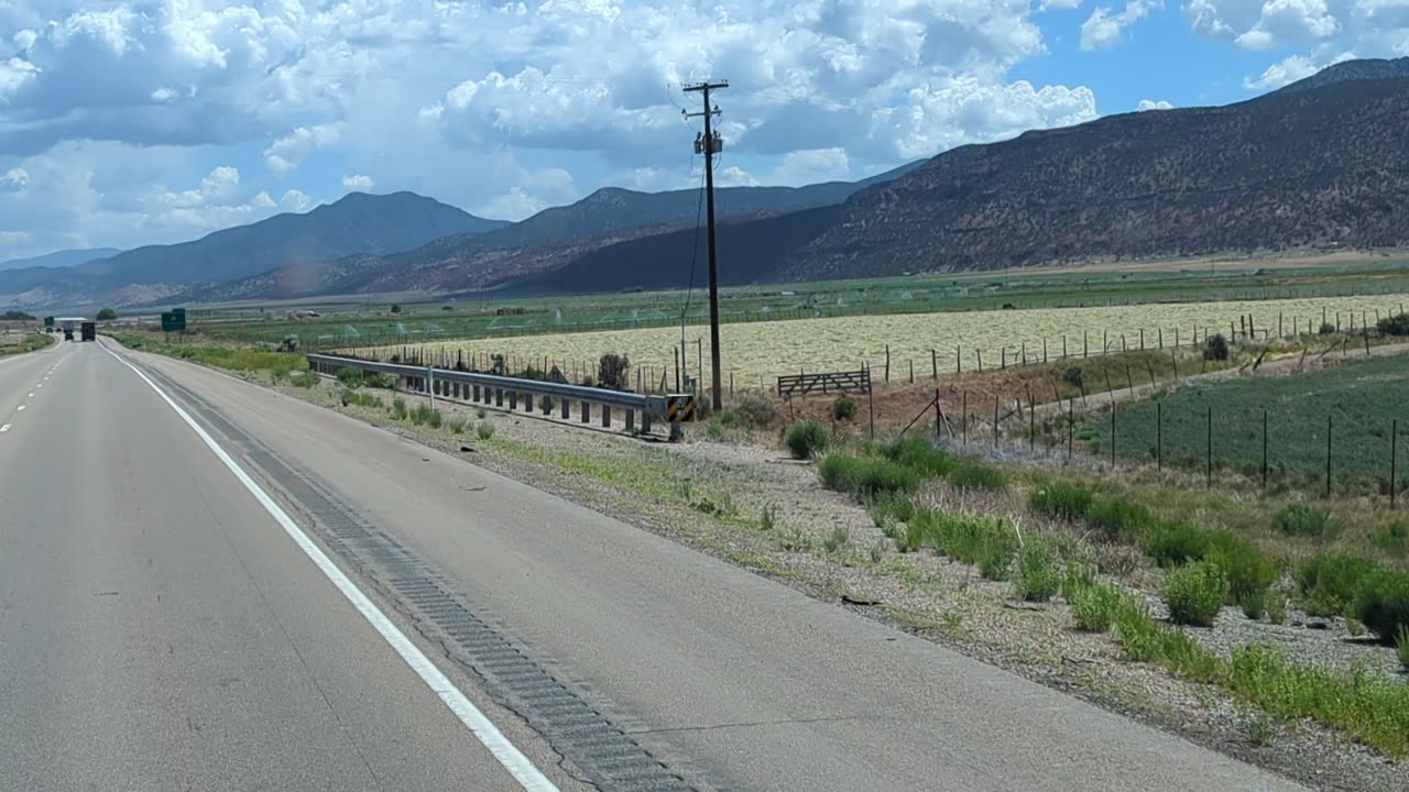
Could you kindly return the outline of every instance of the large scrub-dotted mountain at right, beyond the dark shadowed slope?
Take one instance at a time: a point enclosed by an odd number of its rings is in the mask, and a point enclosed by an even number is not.
[[[947,151],[851,196],[785,275],[1409,244],[1409,78],[1332,70],[1240,104]]]

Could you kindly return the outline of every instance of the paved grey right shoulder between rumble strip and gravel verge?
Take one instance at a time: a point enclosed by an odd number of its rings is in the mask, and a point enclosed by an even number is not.
[[[271,466],[292,507],[345,505],[365,528],[342,552],[379,541],[428,562],[479,619],[699,786],[1299,789],[464,459],[127,355],[242,437],[241,458]],[[318,509],[300,519],[317,527]],[[375,578],[375,558],[362,561]],[[554,724],[535,729],[566,744]]]

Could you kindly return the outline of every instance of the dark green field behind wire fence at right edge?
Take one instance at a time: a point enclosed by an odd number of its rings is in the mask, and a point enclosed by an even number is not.
[[[1260,475],[1262,414],[1271,478],[1324,485],[1330,419],[1333,479],[1389,481],[1391,426],[1399,421],[1398,490],[1409,486],[1409,357],[1385,355],[1308,373],[1246,376],[1188,385],[1157,400],[1123,404],[1116,413],[1116,454],[1153,462],[1162,445],[1165,465]],[[1157,443],[1157,416],[1162,438]],[[1110,452],[1110,413],[1093,416],[1085,433],[1092,450]],[[1215,474],[1217,475],[1217,474]]]

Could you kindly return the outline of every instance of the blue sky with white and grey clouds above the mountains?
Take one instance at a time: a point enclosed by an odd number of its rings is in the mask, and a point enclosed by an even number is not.
[[[1409,0],[0,0],[0,261],[413,190],[861,179],[1409,54]]]

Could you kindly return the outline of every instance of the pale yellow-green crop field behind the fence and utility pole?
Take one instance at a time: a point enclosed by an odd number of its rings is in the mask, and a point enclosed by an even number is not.
[[[1320,327],[1323,309],[1333,324],[1339,313],[1343,328],[1350,327],[1354,314],[1358,328],[1367,320],[1374,324],[1377,310],[1379,316],[1388,316],[1398,313],[1406,303],[1409,295],[1374,295],[759,321],[724,324],[720,328],[720,348],[723,371],[726,375],[733,373],[741,388],[758,388],[759,383],[768,383],[781,373],[854,371],[862,364],[869,364],[874,375],[879,378],[888,345],[890,379],[895,380],[909,376],[910,362],[914,365],[916,378],[927,376],[931,349],[936,352],[941,373],[955,369],[957,354],[964,371],[976,366],[976,354],[982,355],[983,368],[988,369],[999,364],[999,355],[1005,349],[1012,365],[1024,345],[1027,359],[1040,361],[1044,340],[1048,358],[1061,357],[1064,338],[1067,352],[1081,355],[1084,334],[1092,354],[1102,349],[1103,337],[1110,349],[1122,348],[1122,337],[1126,347],[1137,348],[1141,330],[1146,347],[1157,347],[1161,333],[1165,345],[1174,344],[1177,334],[1181,344],[1189,344],[1195,330],[1200,338],[1205,333],[1227,334],[1229,323],[1237,326],[1239,317],[1248,313],[1253,314],[1260,335],[1264,330],[1277,334],[1279,314],[1286,334],[1292,333],[1293,326],[1305,333],[1308,321],[1313,330]],[[700,358],[707,372],[709,327],[688,326],[685,341],[690,373],[695,373]],[[697,341],[702,347],[697,347]],[[495,352],[516,359],[541,361],[547,357],[551,362],[564,365],[569,375],[573,364],[582,369],[604,352],[619,352],[626,354],[633,366],[650,366],[658,380],[662,371],[672,371],[674,351],[679,347],[679,327],[659,327],[442,341],[413,348],[427,352],[444,349],[449,355],[462,351],[466,359],[471,355]],[[399,349],[400,347],[387,347],[383,352]],[[707,375],[704,379],[707,380]]]

